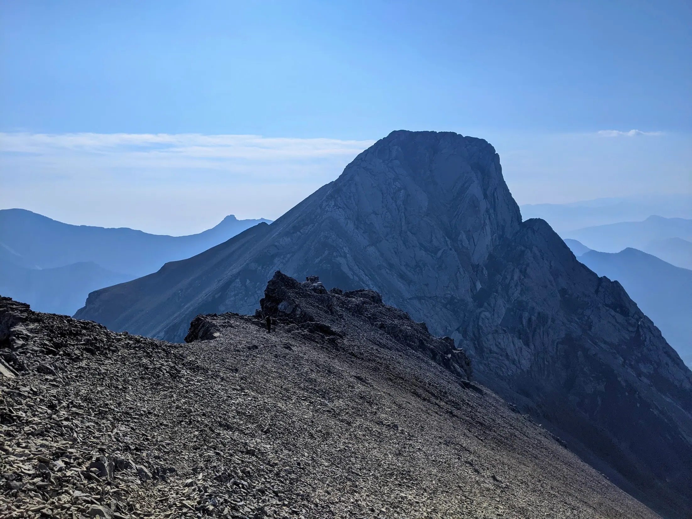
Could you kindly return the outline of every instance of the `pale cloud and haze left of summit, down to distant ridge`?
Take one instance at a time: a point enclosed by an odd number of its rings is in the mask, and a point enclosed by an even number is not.
[[[185,234],[275,219],[372,140],[200,134],[0,134],[1,208]]]

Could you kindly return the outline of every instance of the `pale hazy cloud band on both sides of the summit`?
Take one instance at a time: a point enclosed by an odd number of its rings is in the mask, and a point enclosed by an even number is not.
[[[692,139],[686,134],[459,133],[495,145],[518,203],[692,192]],[[229,214],[276,219],[336,179],[372,143],[255,135],[3,133],[0,208],[25,208],[71,224],[178,235],[209,228]]]

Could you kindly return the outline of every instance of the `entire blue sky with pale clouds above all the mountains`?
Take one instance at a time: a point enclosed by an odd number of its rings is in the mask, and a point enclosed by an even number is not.
[[[274,219],[394,129],[519,203],[692,192],[689,1],[0,0],[0,208]]]

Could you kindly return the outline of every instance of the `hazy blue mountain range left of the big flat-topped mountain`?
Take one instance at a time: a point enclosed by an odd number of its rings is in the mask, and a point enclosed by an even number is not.
[[[72,315],[89,292],[157,271],[260,223],[230,215],[188,236],[63,224],[24,209],[0,210],[0,294],[36,311]]]

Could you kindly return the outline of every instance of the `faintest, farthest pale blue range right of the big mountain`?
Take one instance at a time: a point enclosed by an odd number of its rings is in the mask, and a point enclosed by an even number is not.
[[[641,221],[651,215],[692,219],[692,194],[652,194],[572,203],[538,203],[521,206],[524,219],[541,218],[559,235],[584,227]]]

